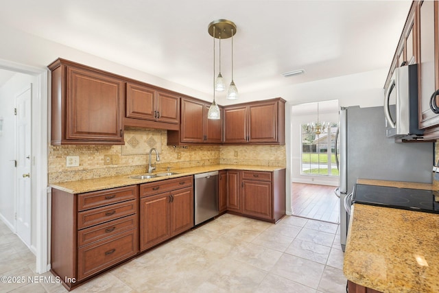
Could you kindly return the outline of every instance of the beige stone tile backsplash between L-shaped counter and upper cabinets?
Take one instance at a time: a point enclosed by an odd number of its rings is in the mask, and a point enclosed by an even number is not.
[[[49,183],[60,183],[147,172],[148,152],[152,146],[160,153],[157,171],[204,165],[241,164],[285,167],[285,145],[166,145],[166,130],[126,128],[125,145],[49,146]],[[134,139],[133,139],[134,137]],[[161,140],[161,141],[158,141]],[[128,143],[130,141],[130,143]],[[137,143],[133,143],[137,141]],[[133,147],[135,145],[135,147]],[[105,165],[104,156],[116,156],[117,165]],[[78,167],[66,167],[67,156],[79,156]]]

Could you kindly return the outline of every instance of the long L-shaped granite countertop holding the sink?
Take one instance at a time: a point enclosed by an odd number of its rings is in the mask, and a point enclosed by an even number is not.
[[[165,180],[169,178],[178,178],[182,176],[188,176],[193,174],[200,174],[204,172],[213,172],[224,169],[237,169],[237,170],[249,170],[249,171],[267,171],[273,172],[279,169],[285,169],[284,167],[268,167],[268,166],[252,166],[252,165],[209,165],[204,167],[190,167],[183,169],[171,169],[171,172],[176,172],[178,174],[171,176],[160,176],[150,179],[132,179],[130,176],[139,174],[127,174],[122,176],[114,177],[104,177],[104,178],[94,178],[88,180],[78,180],[62,183],[53,183],[49,187],[60,189],[62,191],[69,192],[70,194],[82,194],[84,192],[96,191],[102,189],[109,189],[115,187],[122,187],[128,185],[135,185],[141,183],[154,182],[158,180]],[[165,171],[154,172],[163,173]],[[146,172],[145,172],[146,173]]]

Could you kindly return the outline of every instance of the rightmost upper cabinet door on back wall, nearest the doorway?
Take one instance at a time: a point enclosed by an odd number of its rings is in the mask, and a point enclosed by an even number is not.
[[[248,107],[250,143],[275,143],[278,137],[277,103],[270,102]]]

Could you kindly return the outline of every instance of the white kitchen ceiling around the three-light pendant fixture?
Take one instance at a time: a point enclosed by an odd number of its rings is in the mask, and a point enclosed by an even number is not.
[[[207,27],[228,19],[235,84],[251,93],[390,67],[411,2],[5,0],[0,24],[212,93]],[[222,40],[226,83],[230,52]],[[296,69],[305,74],[281,75]]]

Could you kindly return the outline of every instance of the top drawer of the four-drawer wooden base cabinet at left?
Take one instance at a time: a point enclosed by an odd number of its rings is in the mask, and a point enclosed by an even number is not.
[[[88,192],[78,196],[78,211],[134,200],[135,198],[137,198],[137,185]]]

